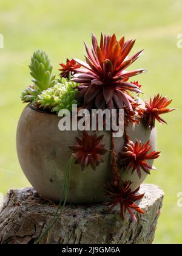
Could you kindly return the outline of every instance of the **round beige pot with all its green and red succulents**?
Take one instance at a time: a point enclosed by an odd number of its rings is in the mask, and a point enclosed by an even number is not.
[[[161,115],[174,108],[167,108],[171,100],[160,94],[149,102],[140,98],[141,85],[131,79],[146,69],[126,71],[143,52],[129,57],[134,44],[115,34],[101,34],[98,43],[92,35],[92,51],[85,43],[86,62],[67,59],[57,79],[48,55],[33,53],[33,84],[21,95],[28,105],[19,119],[17,151],[25,176],[41,196],[59,201],[62,195],[64,204],[120,204],[121,216],[127,210],[135,221],[134,210],[144,214],[135,201],[143,197],[140,185],[160,155],[155,121],[166,123]],[[73,105],[89,113],[116,110],[116,123],[123,110],[124,135],[114,137],[112,129],[58,129],[58,113],[72,113]]]

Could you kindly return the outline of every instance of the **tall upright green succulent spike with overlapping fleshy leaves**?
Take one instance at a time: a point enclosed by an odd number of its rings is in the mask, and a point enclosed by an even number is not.
[[[44,51],[36,50],[33,52],[29,68],[33,77],[32,82],[40,91],[47,90],[47,88],[55,85],[55,74],[52,74],[53,66]]]

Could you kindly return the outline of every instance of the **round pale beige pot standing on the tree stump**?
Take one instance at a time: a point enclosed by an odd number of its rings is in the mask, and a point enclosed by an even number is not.
[[[58,129],[59,117],[50,113],[41,113],[29,106],[25,107],[19,119],[17,130],[17,152],[19,163],[25,176],[33,188],[47,199],[59,201],[64,183],[64,172],[72,155],[68,148],[75,143],[79,131],[64,131]],[[155,129],[150,132],[144,124],[127,128],[130,140],[141,140],[146,143],[150,139],[152,150],[156,150]],[[110,149],[111,132],[98,132],[104,134],[103,142]],[[115,138],[118,152],[124,146],[124,138]],[[96,171],[90,167],[81,172],[79,165],[73,165],[70,178],[70,190],[67,202],[73,204],[90,204],[107,201],[103,193],[103,184],[109,182],[110,165],[109,152],[104,155],[102,163]],[[149,161],[150,164],[153,161]],[[122,172],[121,179],[131,180],[132,189],[137,188],[147,177],[142,172],[141,179],[137,173]]]

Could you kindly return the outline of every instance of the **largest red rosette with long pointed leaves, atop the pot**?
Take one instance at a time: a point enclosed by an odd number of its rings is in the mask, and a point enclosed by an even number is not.
[[[129,92],[141,93],[138,85],[126,82],[129,77],[141,74],[146,69],[125,71],[141,55],[136,52],[129,59],[127,55],[133,48],[135,40],[125,41],[124,37],[116,40],[115,34],[101,34],[100,44],[92,35],[92,52],[85,43],[87,57],[86,63],[75,59],[84,68],[76,69],[74,81],[81,83],[76,98],[83,101],[86,108],[123,108],[123,105],[132,110],[133,102]]]

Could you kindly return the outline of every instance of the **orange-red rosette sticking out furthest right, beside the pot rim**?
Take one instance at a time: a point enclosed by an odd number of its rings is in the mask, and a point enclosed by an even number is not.
[[[167,99],[166,97],[154,96],[154,98],[150,98],[150,102],[146,102],[146,107],[144,109],[144,119],[146,120],[147,127],[153,129],[155,127],[155,119],[159,121],[160,124],[167,124],[160,115],[165,113],[172,112],[176,108],[167,108],[167,106],[172,102],[172,99]]]

